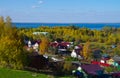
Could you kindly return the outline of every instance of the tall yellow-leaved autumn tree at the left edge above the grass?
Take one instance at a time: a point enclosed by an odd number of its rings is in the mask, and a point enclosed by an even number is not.
[[[3,24],[0,38],[0,67],[22,69],[26,63],[21,37],[17,29],[12,27],[10,17]]]

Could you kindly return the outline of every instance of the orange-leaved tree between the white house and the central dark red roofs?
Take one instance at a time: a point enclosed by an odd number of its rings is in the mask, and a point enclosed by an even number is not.
[[[41,38],[40,43],[40,54],[45,54],[48,52],[49,40],[46,37]]]

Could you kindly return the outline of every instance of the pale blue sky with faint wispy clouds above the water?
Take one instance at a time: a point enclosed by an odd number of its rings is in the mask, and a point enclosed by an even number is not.
[[[0,0],[13,22],[120,23],[120,0]]]

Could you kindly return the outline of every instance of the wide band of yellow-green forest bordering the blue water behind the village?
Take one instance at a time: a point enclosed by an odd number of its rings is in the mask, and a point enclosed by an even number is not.
[[[120,29],[109,26],[105,26],[101,30],[91,30],[88,28],[79,28],[75,26],[40,26],[39,28],[21,29],[20,32],[35,39],[40,38],[40,36],[35,37],[32,34],[33,32],[48,32],[49,34],[47,37],[50,39],[50,41],[60,38],[64,41],[75,42],[76,44],[87,41],[106,44],[120,43]]]

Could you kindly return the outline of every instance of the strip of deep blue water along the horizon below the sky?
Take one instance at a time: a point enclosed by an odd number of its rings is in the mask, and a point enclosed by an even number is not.
[[[40,26],[76,26],[76,27],[86,27],[89,29],[101,29],[105,26],[110,26],[114,28],[120,28],[120,23],[12,23],[17,28],[38,28]]]

